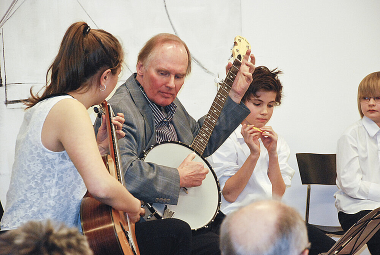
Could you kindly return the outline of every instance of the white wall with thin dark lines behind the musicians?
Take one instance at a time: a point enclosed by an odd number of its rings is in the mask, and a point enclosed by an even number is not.
[[[1,1],[0,16],[7,2],[11,1]],[[303,215],[305,187],[300,184],[295,153],[334,153],[341,131],[359,118],[357,85],[366,74],[380,70],[380,1],[79,2],[86,12],[76,0],[26,0],[2,26],[7,83],[27,83],[9,85],[8,99],[22,98],[30,84],[41,86],[60,39],[73,21],[87,21],[120,38],[128,66],[121,80],[134,71],[143,42],[158,32],[174,32],[174,27],[195,58],[220,77],[234,36],[243,35],[251,43],[257,65],[278,66],[284,72],[280,78],[285,96],[269,124],[287,140],[289,163],[296,170],[283,200]],[[2,57],[0,62],[3,74]],[[193,66],[179,98],[197,118],[207,112],[216,88],[213,75],[194,62]],[[4,87],[0,99],[4,101]],[[19,107],[0,106],[1,201],[5,200],[14,140],[22,121]],[[311,222],[338,224],[331,192],[312,190],[312,199],[318,201],[311,207]]]

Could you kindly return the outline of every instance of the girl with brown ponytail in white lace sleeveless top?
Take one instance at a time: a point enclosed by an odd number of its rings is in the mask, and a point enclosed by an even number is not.
[[[143,214],[140,201],[105,169],[100,153],[108,150],[106,127],[95,138],[87,113],[115,87],[122,61],[121,45],[110,33],[85,22],[68,27],[44,92],[33,95],[30,89],[24,101],[1,230],[47,218],[80,229],[79,206],[87,189],[133,222]],[[112,121],[122,137],[123,115]]]

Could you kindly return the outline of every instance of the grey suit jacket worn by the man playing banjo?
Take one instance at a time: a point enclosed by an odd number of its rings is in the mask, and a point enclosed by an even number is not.
[[[204,117],[195,121],[178,98],[174,102],[177,109],[172,123],[178,140],[191,144]],[[157,202],[156,198],[163,198],[161,201],[176,204],[180,188],[178,170],[138,159],[143,150],[156,142],[153,113],[133,74],[116,89],[108,103],[115,113],[124,113],[122,130],[125,136],[119,139],[119,149],[126,188],[145,202]],[[243,103],[237,104],[227,97],[203,156],[214,152],[248,114],[249,109]],[[96,131],[99,126],[100,119],[97,119]]]

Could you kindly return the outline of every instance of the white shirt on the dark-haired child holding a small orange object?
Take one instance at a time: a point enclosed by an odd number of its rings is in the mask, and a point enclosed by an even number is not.
[[[250,154],[249,147],[244,142],[244,138],[240,131],[241,124],[231,133],[231,135],[229,135],[224,143],[207,158],[219,179],[221,190],[223,190],[227,179],[240,169]],[[224,199],[223,195],[221,196],[220,210],[224,214],[228,214],[258,199],[270,199],[272,197],[272,184],[267,174],[269,155],[260,139],[259,141],[260,156],[245,188],[237,196],[234,202],[228,202]],[[290,186],[294,169],[292,169],[287,163],[290,150],[289,146],[280,135],[278,135],[277,138],[277,154],[283,181],[286,186]]]

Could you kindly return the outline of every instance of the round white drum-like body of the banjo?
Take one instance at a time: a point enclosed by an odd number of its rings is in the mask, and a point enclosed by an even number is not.
[[[193,148],[177,141],[157,143],[147,150],[141,159],[177,168],[191,152],[196,153],[193,161],[202,162],[204,167],[208,168],[202,184],[197,187],[188,187],[187,190],[181,188],[176,205],[153,203],[152,206],[162,216],[166,205],[168,209],[175,211],[173,218],[182,219],[190,225],[191,229],[197,230],[207,227],[214,220],[221,203],[219,182],[211,165]]]

